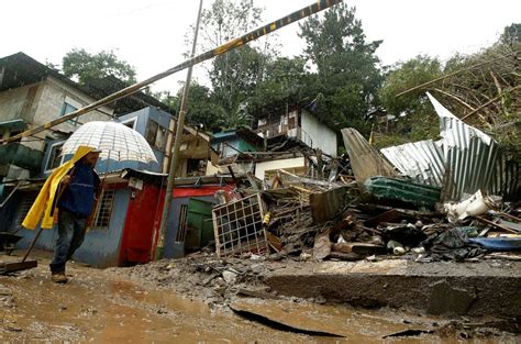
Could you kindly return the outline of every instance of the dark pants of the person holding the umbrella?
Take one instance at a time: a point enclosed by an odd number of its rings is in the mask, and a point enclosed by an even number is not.
[[[65,263],[74,255],[85,237],[87,218],[70,213],[64,209],[58,213],[58,240],[54,247],[52,273],[65,273]]]

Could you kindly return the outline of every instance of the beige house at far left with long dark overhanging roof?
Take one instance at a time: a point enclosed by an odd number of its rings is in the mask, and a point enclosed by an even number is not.
[[[0,58],[0,137],[47,123],[126,85],[106,77],[80,86],[24,53]],[[0,181],[44,177],[63,162],[60,146],[82,123],[107,121],[147,106],[167,107],[137,92],[31,137],[0,146]],[[0,195],[2,193],[0,185]]]

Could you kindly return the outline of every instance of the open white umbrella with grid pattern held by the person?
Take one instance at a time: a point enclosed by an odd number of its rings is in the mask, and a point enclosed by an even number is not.
[[[85,123],[65,142],[62,154],[75,154],[78,146],[101,149],[102,159],[157,163],[145,137],[121,123],[97,121]]]

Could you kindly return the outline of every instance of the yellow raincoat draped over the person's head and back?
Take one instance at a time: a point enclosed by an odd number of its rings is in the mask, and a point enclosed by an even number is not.
[[[69,170],[74,167],[74,164],[86,156],[88,153],[95,151],[92,147],[79,146],[74,157],[62,166],[57,167],[53,174],[45,180],[42,190],[40,190],[36,200],[27,212],[27,215],[22,222],[22,225],[26,229],[34,230],[40,222],[43,213],[42,229],[52,229],[54,223],[58,219],[58,209],[55,202],[55,197],[58,190],[59,182]],[[53,209],[54,208],[54,209]]]

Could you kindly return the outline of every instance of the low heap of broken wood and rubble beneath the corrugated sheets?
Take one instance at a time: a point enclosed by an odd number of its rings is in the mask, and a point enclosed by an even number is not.
[[[276,188],[214,208],[219,256],[357,260],[409,254],[418,262],[432,262],[521,248],[521,209],[497,211],[500,203],[480,191],[479,198],[436,210],[419,197],[421,191],[410,192],[400,184],[388,184],[381,195],[356,182],[323,184],[284,170],[276,179],[269,184]],[[392,198],[409,208],[385,206]]]

